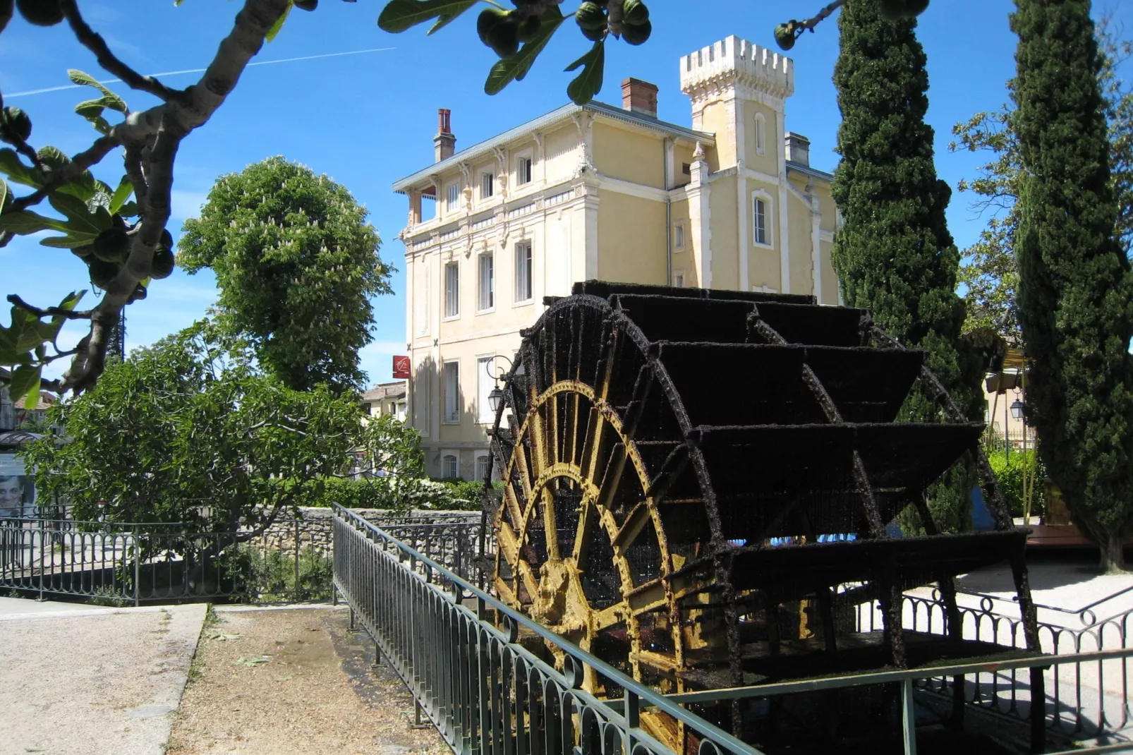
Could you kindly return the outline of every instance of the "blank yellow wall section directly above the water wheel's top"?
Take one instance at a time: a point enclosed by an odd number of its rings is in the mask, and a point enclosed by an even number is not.
[[[598,192],[598,278],[665,283],[665,203]]]

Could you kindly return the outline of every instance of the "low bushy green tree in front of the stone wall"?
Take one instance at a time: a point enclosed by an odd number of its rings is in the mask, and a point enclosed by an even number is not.
[[[41,495],[59,493],[78,519],[99,503],[117,521],[259,528],[316,497],[367,444],[351,397],[295,391],[229,350],[207,323],[138,349],[97,387],[49,412],[68,442],[26,452]],[[248,535],[250,536],[250,535]]]

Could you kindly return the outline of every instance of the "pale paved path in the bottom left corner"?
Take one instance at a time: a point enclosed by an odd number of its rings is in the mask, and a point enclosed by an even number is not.
[[[171,605],[0,620],[0,753],[163,753],[204,616]]]

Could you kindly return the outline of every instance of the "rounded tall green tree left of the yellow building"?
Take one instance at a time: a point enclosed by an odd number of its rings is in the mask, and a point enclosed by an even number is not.
[[[369,298],[392,292],[367,211],[326,176],[271,158],[218,179],[179,243],[189,273],[210,268],[218,322],[247,337],[295,390],[361,387],[358,349],[373,340]]]

